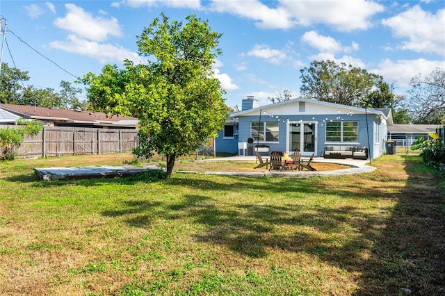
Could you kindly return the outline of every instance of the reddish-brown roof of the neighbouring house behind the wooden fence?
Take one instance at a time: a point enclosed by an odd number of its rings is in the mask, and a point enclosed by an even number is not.
[[[108,116],[102,112],[90,112],[82,110],[67,110],[59,108],[44,108],[35,106],[0,104],[0,109],[20,117],[67,123],[86,123],[95,125],[136,125],[137,118],[127,116]]]

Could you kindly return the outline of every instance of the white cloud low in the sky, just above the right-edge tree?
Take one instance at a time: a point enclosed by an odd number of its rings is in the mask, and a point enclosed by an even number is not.
[[[378,69],[371,69],[370,72],[382,75],[389,84],[395,83],[401,88],[406,88],[414,76],[417,74],[427,76],[437,67],[445,69],[445,61],[423,58],[396,61],[385,59],[379,63]]]

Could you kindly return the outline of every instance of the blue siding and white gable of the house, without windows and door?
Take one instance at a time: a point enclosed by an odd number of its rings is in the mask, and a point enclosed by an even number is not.
[[[238,142],[247,142],[250,138],[252,122],[279,121],[278,142],[259,141],[251,145],[268,145],[270,147],[269,153],[270,151],[286,151],[289,149],[289,135],[287,133],[289,133],[290,122],[316,124],[314,128],[314,139],[316,141],[314,151],[316,156],[323,156],[324,149],[328,145],[368,147],[369,155],[372,158],[382,155],[385,150],[388,117],[381,110],[343,106],[311,99],[292,99],[252,110],[243,110],[232,114],[232,117],[238,118]],[[391,117],[389,120],[392,122]],[[357,142],[327,142],[326,122],[330,121],[357,121]],[[308,136],[310,138],[311,134],[309,133]],[[302,151],[302,154],[312,154],[312,151]]]

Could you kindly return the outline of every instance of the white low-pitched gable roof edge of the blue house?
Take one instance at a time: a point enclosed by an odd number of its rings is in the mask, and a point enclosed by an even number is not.
[[[287,105],[298,104],[298,102],[300,102],[300,101],[306,102],[308,104],[325,106],[327,108],[331,108],[332,110],[335,110],[335,112],[337,112],[337,110],[338,110],[338,112],[341,112],[340,110],[342,110],[342,111],[348,111],[348,112],[352,112],[352,113],[356,113],[356,114],[368,113],[371,115],[382,115],[387,120],[388,125],[393,124],[391,109],[389,109],[389,108],[359,108],[359,107],[354,107],[354,106],[334,104],[334,103],[330,103],[327,101],[318,101],[316,99],[304,99],[304,98],[290,99],[288,101],[280,101],[279,103],[275,103],[275,104],[268,104],[265,106],[252,108],[249,110],[243,110],[243,111],[232,113],[230,116],[231,117],[240,117],[240,116],[247,116],[247,115],[259,115],[260,111],[268,112],[269,109],[277,110],[277,109],[281,108],[283,110],[286,110]],[[284,111],[284,112],[286,112],[286,111]]]

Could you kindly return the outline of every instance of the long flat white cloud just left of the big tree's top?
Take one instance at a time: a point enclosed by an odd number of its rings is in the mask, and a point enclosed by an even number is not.
[[[77,38],[75,35],[68,35],[67,41],[53,41],[50,43],[50,46],[54,49],[62,49],[73,54],[95,58],[104,64],[122,64],[126,58],[134,63],[147,63],[138,54],[124,49],[124,47],[115,47],[112,44],[99,44],[98,42]]]

